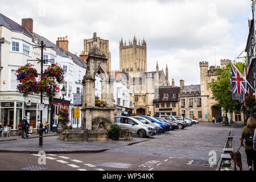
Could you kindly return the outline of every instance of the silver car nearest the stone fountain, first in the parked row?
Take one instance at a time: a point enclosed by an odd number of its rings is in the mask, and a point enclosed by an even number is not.
[[[122,129],[130,129],[133,135],[139,137],[149,137],[156,134],[154,127],[144,125],[138,119],[127,116],[115,116],[115,123]]]

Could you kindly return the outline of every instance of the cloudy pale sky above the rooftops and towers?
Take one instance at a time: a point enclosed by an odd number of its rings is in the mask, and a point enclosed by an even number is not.
[[[119,40],[147,42],[147,71],[169,68],[175,85],[200,84],[200,61],[220,65],[245,49],[250,0],[14,1],[1,0],[0,13],[21,24],[34,20],[34,32],[56,42],[68,36],[69,51],[80,54],[93,32],[109,40],[112,69],[119,69]],[[214,49],[216,56],[214,56]],[[243,54],[245,55],[245,54]],[[215,59],[216,57],[216,59]],[[241,59],[239,59],[241,61]]]

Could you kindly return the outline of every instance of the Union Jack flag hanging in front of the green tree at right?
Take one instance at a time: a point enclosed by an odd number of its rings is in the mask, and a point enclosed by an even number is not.
[[[238,94],[241,94],[241,93],[245,94],[246,80],[233,63],[231,63],[231,75],[232,75],[232,92],[238,93]]]

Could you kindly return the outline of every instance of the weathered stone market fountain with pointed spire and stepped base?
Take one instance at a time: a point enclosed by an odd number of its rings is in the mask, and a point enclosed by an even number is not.
[[[93,40],[93,47],[88,52],[86,73],[82,80],[82,127],[81,130],[64,131],[65,140],[105,141],[107,130],[114,123],[113,84],[114,78],[107,73],[107,58]],[[104,107],[95,106],[96,74],[101,77],[101,99],[106,101]],[[72,138],[70,136],[73,136]]]

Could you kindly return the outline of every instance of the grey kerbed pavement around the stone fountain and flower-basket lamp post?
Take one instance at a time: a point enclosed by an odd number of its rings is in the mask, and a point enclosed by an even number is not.
[[[47,136],[47,137],[46,137]],[[134,137],[132,141],[106,141],[106,142],[73,142],[57,140],[56,133],[44,135],[43,147],[39,147],[39,137],[13,139],[0,142],[0,152],[27,152],[37,154],[39,151],[51,153],[72,153],[72,152],[102,152],[110,148],[127,146],[137,142],[149,140],[148,138]]]

